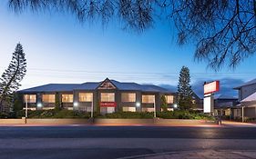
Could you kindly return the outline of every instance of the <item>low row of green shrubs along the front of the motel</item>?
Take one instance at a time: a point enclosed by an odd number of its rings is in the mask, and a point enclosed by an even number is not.
[[[25,110],[17,111],[15,114],[16,118],[21,118],[25,115]],[[0,118],[12,117],[10,114],[0,114]],[[28,111],[29,118],[89,118],[90,113],[72,111],[62,109],[57,111],[53,110],[36,110]],[[112,114],[95,114],[96,118],[111,118],[111,119],[152,119],[153,113],[148,112],[115,112]],[[203,119],[203,120],[214,120],[213,117],[207,114],[198,113],[195,111],[167,111],[157,112],[157,117],[163,119]]]

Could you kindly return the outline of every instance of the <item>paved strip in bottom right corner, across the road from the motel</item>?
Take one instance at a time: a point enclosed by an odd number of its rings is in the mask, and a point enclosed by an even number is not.
[[[185,152],[169,152],[162,154],[146,154],[130,157],[123,157],[119,159],[248,159],[255,158],[255,151],[217,151],[217,150],[203,150],[203,151],[185,151]]]

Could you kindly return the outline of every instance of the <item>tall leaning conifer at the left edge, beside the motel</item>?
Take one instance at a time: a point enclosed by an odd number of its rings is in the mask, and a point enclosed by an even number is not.
[[[26,75],[26,58],[21,44],[17,44],[10,65],[0,78],[0,111],[13,102],[13,95]]]

